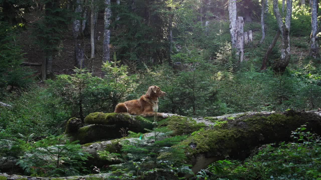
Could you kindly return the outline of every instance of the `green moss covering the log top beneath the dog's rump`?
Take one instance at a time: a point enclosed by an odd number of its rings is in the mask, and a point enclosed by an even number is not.
[[[85,123],[87,124],[114,124],[115,122],[122,120],[122,121],[129,121],[131,118],[129,115],[126,114],[119,114],[119,113],[103,113],[103,112],[94,112],[90,113],[85,118]]]

